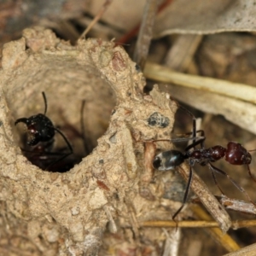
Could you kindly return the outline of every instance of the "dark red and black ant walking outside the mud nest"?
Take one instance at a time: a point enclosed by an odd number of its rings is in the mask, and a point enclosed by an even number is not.
[[[189,113],[188,110],[186,112]],[[220,192],[224,195],[224,192],[220,187],[218,186],[217,179],[215,177],[215,173],[217,172],[219,174],[224,175],[225,177],[230,179],[230,182],[233,183],[237,189],[239,189],[242,193],[244,193],[247,196],[247,199],[253,203],[254,206],[256,204],[251,200],[249,195],[247,195],[247,192],[245,189],[243,189],[234,179],[232,179],[226,172],[218,169],[215,166],[212,166],[212,162],[216,162],[217,160],[220,160],[224,158],[226,161],[228,161],[231,165],[241,166],[241,165],[247,165],[247,171],[250,175],[250,177],[253,178],[253,181],[256,182],[255,177],[253,177],[253,174],[250,170],[250,163],[252,160],[252,156],[249,153],[249,151],[255,151],[255,150],[247,150],[246,148],[243,148],[240,143],[230,142],[227,145],[227,148],[224,148],[222,146],[213,146],[211,148],[204,148],[204,142],[205,142],[205,135],[204,131],[196,131],[196,123],[195,123],[195,116],[192,113],[189,113],[193,118],[193,130],[192,132],[186,133],[186,134],[192,134],[192,137],[188,138],[188,140],[193,140],[193,143],[190,144],[187,148],[185,148],[184,153],[180,152],[178,150],[172,149],[164,151],[160,154],[157,154],[154,157],[153,160],[153,166],[155,169],[158,169],[160,171],[168,171],[168,170],[174,170],[175,167],[180,166],[184,160],[189,160],[189,181],[185,190],[185,194],[183,196],[183,203],[182,206],[178,208],[177,212],[174,213],[172,216],[172,219],[177,217],[177,214],[182,211],[189,195],[189,189],[192,183],[192,177],[193,177],[193,169],[192,166],[195,165],[195,163],[200,164],[201,166],[208,166],[209,169],[212,172],[212,177],[214,180],[214,183],[217,185]],[[196,137],[196,133],[201,132],[201,137]],[[181,141],[184,139],[181,138]],[[178,139],[174,140],[155,140],[154,142],[158,141],[178,141]],[[201,145],[201,148],[195,148],[197,145]]]

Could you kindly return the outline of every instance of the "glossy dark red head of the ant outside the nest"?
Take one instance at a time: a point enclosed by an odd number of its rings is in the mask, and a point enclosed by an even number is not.
[[[227,146],[225,160],[235,166],[249,165],[252,161],[252,155],[240,143],[230,142]]]

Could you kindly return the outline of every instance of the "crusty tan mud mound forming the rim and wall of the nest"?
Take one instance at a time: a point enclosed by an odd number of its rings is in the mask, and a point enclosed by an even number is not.
[[[5,44],[0,246],[6,255],[97,255],[107,227],[115,233],[126,223],[138,237],[137,222],[172,218],[162,205],[164,183],[150,183],[155,145],[137,141],[169,137],[176,104],[157,86],[143,95],[144,85],[136,63],[113,42],[87,39],[71,46],[36,27]],[[43,113],[42,91],[55,124],[64,117],[79,125],[79,106],[86,102],[86,126],[95,148],[68,172],[33,166],[19,147],[15,119]]]

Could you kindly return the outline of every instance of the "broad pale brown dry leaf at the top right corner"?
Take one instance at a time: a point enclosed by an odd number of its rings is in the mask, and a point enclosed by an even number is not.
[[[176,0],[158,15],[154,38],[172,33],[253,32],[255,15],[253,0]]]

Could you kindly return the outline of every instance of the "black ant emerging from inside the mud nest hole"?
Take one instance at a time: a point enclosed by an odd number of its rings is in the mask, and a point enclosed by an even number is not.
[[[56,163],[65,159],[68,155],[73,154],[73,148],[68,142],[67,137],[65,137],[59,129],[55,128],[52,121],[45,115],[47,112],[47,100],[44,91],[42,92],[42,95],[44,98],[44,114],[38,113],[36,115],[32,115],[29,118],[16,119],[15,125],[17,125],[18,123],[24,123],[27,128],[27,134],[29,137],[31,137],[31,140],[27,142],[27,145],[31,147],[34,146],[34,148],[32,148],[32,151],[21,148],[21,150],[25,154],[34,154],[33,157],[30,157],[29,159],[33,161],[35,160],[34,157],[39,155],[39,160],[48,160],[49,157],[47,157],[46,154],[60,156],[57,160],[51,162],[49,166],[45,168],[49,169],[50,166],[55,166]],[[68,153],[65,154],[50,152],[54,143],[55,131],[57,131],[64,139],[65,143],[67,143],[67,147],[69,149]],[[42,166],[38,161],[36,161],[36,163],[37,166]]]

